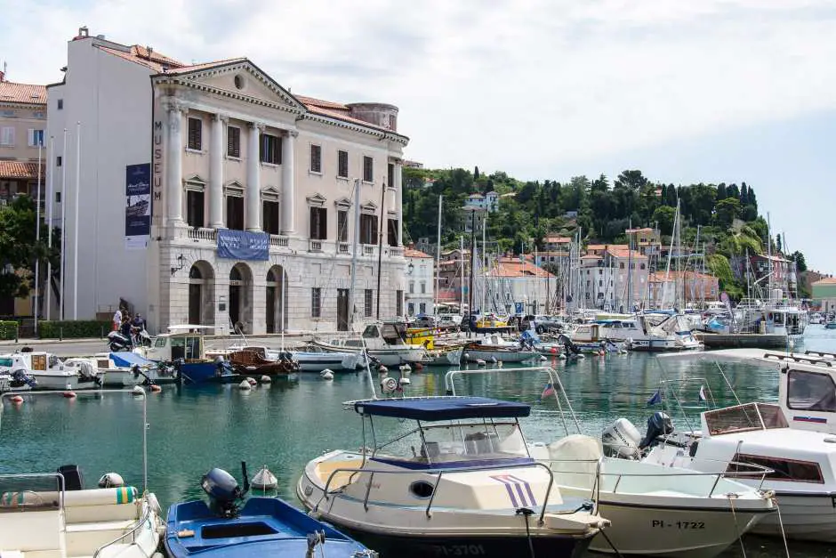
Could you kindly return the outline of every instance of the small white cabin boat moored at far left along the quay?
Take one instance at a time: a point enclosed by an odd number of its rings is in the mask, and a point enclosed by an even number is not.
[[[65,366],[57,356],[44,351],[20,351],[3,355],[12,360],[10,372],[22,370],[34,379],[38,390],[81,390],[98,389],[101,379],[98,370],[92,366]]]

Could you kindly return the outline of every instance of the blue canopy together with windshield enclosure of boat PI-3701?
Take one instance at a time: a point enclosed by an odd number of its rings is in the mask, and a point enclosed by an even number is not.
[[[484,397],[426,397],[365,400],[354,403],[364,421],[364,441],[371,434],[377,464],[408,469],[490,465],[527,465],[528,454],[518,417],[528,416],[524,403]],[[414,427],[390,441],[379,441],[374,418],[414,421]]]

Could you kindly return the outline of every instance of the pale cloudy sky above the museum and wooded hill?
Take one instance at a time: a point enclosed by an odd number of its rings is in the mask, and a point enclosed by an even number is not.
[[[836,272],[832,0],[0,0],[0,63],[60,81],[66,42],[246,56],[293,93],[400,109],[406,158],[568,181],[746,182]]]

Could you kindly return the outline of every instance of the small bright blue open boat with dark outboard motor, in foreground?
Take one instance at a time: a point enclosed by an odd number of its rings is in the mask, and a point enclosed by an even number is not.
[[[171,506],[165,529],[169,556],[377,556],[279,498],[249,497],[244,503],[249,483],[243,468],[244,489],[231,474],[215,468],[200,483],[209,497],[208,504],[195,500]]]

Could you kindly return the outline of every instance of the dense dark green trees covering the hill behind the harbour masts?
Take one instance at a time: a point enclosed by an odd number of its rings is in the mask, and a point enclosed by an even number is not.
[[[575,176],[568,182],[521,182],[502,172],[457,168],[405,169],[404,185],[404,222],[413,241],[427,237],[435,243],[438,196],[444,196],[445,247],[458,245],[467,218],[465,199],[495,190],[501,197],[499,210],[490,215],[487,234],[502,251],[515,253],[542,249],[546,236],[572,236],[578,229],[584,243],[626,243],[624,230],[653,227],[668,243],[679,200],[682,247],[696,249],[699,231],[698,251],[704,251],[707,269],[735,297],[744,295],[743,256],[764,253],[768,239],[755,190],[745,182],[677,186],[652,182],[639,170],[625,170],[612,183],[604,174],[593,180]],[[772,248],[780,253],[780,240],[773,240]],[[790,257],[804,265],[800,253]]]

